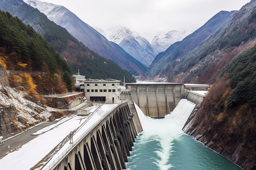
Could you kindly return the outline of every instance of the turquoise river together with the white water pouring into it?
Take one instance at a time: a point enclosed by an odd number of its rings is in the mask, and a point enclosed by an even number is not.
[[[182,131],[195,104],[182,99],[163,119],[146,117],[135,107],[143,131],[134,143],[127,169],[240,169]]]

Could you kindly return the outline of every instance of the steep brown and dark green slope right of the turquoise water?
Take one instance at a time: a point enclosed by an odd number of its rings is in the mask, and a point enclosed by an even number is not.
[[[234,57],[186,133],[244,169],[256,169],[256,45]]]

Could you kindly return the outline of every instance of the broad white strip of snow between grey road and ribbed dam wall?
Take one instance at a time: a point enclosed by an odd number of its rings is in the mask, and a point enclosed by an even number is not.
[[[70,131],[78,128],[85,121],[81,121],[81,118],[79,116],[72,117],[63,124],[39,135],[18,150],[10,152],[1,159],[1,169],[30,169],[67,137]]]

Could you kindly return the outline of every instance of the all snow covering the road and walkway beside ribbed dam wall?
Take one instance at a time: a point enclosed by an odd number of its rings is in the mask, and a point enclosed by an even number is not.
[[[39,132],[40,135],[38,135],[38,137],[0,159],[0,169],[30,169],[34,167],[35,164],[42,160],[44,156],[67,137],[70,131],[79,128],[79,126],[87,121],[73,136],[73,141],[76,141],[76,139],[93,126],[95,122],[106,116],[106,114],[116,105],[117,104],[102,105],[102,107],[89,119],[86,119],[83,116],[72,116],[69,117],[69,120],[67,118],[67,121],[61,122],[61,124],[58,124],[55,127],[47,127],[40,131],[43,132],[43,134],[40,134]],[[57,152],[56,156],[59,156],[61,151],[65,150],[69,145],[69,142],[67,142],[61,150]],[[51,160],[54,161],[55,158]]]

